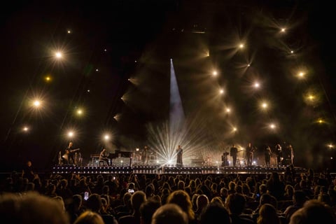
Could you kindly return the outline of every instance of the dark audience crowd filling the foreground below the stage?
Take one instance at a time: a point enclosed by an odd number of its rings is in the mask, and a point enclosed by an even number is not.
[[[328,172],[35,174],[1,180],[4,223],[336,223]]]

